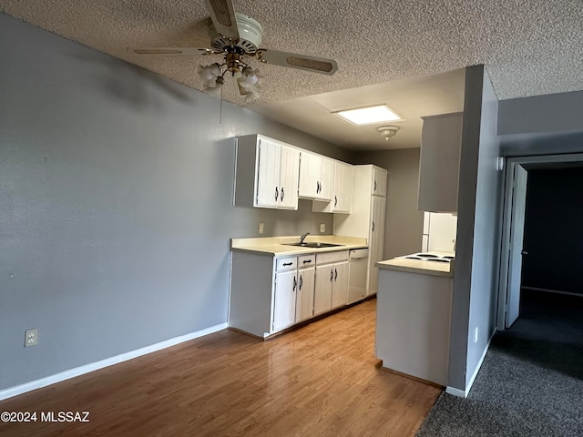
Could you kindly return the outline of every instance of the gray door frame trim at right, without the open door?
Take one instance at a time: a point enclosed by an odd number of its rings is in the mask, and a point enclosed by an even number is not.
[[[504,204],[502,209],[502,247],[500,251],[500,276],[498,286],[498,313],[496,321],[497,330],[506,330],[506,306],[508,298],[508,262],[510,255],[510,229],[514,217],[512,202],[513,175],[516,166],[552,168],[560,163],[583,162],[583,153],[563,155],[536,155],[527,157],[506,158]],[[521,248],[522,249],[522,248]]]

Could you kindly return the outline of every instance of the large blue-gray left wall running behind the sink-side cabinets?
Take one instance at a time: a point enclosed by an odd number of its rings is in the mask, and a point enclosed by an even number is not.
[[[343,149],[7,15],[0,65],[0,390],[226,322],[229,239],[259,221],[332,229],[233,208],[230,138]]]

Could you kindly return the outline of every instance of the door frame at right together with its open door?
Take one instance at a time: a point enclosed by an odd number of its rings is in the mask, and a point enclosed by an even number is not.
[[[522,257],[527,254],[522,247],[527,169],[575,165],[583,165],[583,154],[516,157],[506,161],[497,330],[506,330],[519,316]]]

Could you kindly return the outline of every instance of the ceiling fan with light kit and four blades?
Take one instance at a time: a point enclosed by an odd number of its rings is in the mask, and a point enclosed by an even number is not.
[[[222,63],[199,67],[199,78],[205,91],[217,93],[224,84],[227,73],[237,76],[242,96],[257,98],[259,76],[257,70],[247,64],[254,57],[265,64],[288,66],[301,70],[333,75],[338,69],[336,61],[318,56],[298,55],[260,48],[262,28],[251,16],[236,13],[232,0],[204,0],[212,21],[212,48],[159,47],[136,48],[139,55],[222,55]],[[214,94],[212,93],[212,94]]]

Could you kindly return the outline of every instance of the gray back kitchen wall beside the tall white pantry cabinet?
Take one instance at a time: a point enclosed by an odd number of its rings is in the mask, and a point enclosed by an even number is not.
[[[421,143],[421,138],[419,138]],[[384,259],[421,250],[423,212],[417,210],[419,148],[383,150],[359,154],[358,164],[386,168],[389,183],[384,228]]]

